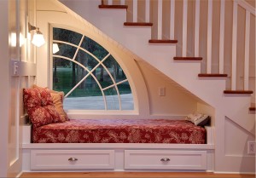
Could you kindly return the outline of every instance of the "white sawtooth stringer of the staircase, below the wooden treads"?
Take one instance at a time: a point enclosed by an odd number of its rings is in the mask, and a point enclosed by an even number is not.
[[[75,2],[75,3],[74,3]],[[253,114],[248,114],[250,95],[224,95],[225,80],[200,79],[197,74],[201,66],[195,62],[178,62],[172,60],[176,55],[174,44],[149,44],[151,28],[148,26],[123,26],[126,21],[124,9],[98,9],[101,3],[93,1],[61,0],[68,8],[90,21],[102,32],[119,42],[126,49],[136,54],[136,60],[143,59],[191,93],[213,106],[247,129],[254,135]],[[96,30],[96,29],[95,29]]]

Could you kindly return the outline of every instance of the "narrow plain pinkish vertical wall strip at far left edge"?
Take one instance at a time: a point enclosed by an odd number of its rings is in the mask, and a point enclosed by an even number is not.
[[[7,176],[7,164],[8,164],[8,119],[9,119],[9,3],[8,1],[0,1],[0,113],[1,113],[1,124],[0,134],[0,177]],[[4,136],[5,135],[5,136]]]

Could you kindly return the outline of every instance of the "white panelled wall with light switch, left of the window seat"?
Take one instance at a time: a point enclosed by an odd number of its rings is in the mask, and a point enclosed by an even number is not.
[[[26,40],[27,1],[0,1],[0,13],[2,26],[0,176],[15,177],[20,174],[22,166],[21,115],[24,115],[22,89],[28,86],[29,81],[24,64],[29,56],[28,46],[30,46],[30,42]]]

